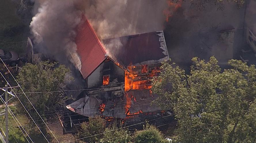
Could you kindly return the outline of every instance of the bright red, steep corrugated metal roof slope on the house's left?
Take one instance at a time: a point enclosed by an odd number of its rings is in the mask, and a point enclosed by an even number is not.
[[[106,59],[106,51],[101,45],[94,29],[83,15],[77,26],[75,38],[80,65],[77,65],[86,79]],[[76,63],[77,64],[77,63]]]

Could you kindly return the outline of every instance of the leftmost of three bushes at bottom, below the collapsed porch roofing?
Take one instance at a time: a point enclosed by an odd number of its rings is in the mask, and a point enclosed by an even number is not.
[[[100,116],[95,118],[89,118],[89,122],[83,122],[80,124],[78,132],[76,134],[76,138],[84,138],[82,141],[84,142],[99,142],[102,138],[102,134],[105,131],[106,121],[102,119]],[[100,134],[97,136],[92,136],[95,134]],[[89,138],[85,138],[88,136],[92,136]]]

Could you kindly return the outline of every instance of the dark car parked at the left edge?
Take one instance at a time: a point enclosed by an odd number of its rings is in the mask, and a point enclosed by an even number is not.
[[[11,65],[11,66],[15,66],[20,57],[17,53],[13,52],[13,51],[5,51],[5,50],[1,50],[0,49],[0,57],[3,60],[3,62]]]

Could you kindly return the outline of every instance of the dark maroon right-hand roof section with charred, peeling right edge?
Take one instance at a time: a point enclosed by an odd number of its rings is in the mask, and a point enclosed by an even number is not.
[[[109,57],[124,67],[169,59],[163,31],[105,39],[103,44]]]

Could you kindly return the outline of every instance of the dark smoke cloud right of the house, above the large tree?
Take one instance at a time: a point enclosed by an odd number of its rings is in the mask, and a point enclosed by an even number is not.
[[[217,11],[217,7],[208,5],[197,11],[189,1],[182,3],[164,30],[169,56],[174,62],[189,69],[192,57],[207,60],[216,49],[224,52],[227,46],[219,45],[218,40],[222,30],[235,29],[234,50],[240,46],[244,7],[238,9],[233,2],[224,5],[223,10]],[[229,57],[221,58],[218,60],[227,61]]]

